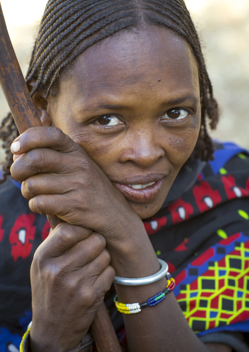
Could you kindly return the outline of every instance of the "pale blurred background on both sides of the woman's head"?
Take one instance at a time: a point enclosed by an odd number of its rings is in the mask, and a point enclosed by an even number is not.
[[[47,0],[0,0],[10,38],[26,73]],[[201,38],[221,118],[212,136],[249,149],[249,0],[186,0]],[[0,90],[0,120],[8,106]],[[3,160],[0,149],[0,161]]]

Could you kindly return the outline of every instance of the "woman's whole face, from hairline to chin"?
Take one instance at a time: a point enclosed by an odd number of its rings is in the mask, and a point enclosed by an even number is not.
[[[121,32],[79,56],[47,111],[146,219],[199,135],[195,57],[169,29]]]

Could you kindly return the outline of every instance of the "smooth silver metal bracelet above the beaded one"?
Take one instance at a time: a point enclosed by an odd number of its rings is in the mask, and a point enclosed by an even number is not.
[[[119,285],[125,285],[125,286],[139,286],[139,285],[149,285],[149,283],[159,281],[161,278],[166,276],[169,270],[169,266],[162,259],[158,258],[158,261],[161,266],[161,269],[153,275],[150,275],[147,277],[140,277],[140,278],[126,278],[126,277],[115,276],[113,282],[118,283]]]

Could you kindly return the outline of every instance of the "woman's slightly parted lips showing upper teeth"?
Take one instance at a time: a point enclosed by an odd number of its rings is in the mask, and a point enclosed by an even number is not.
[[[144,203],[153,201],[160,193],[163,186],[165,177],[160,180],[151,180],[149,183],[139,183],[136,184],[125,184],[113,182],[119,191],[125,196],[129,201],[134,201],[136,203]],[[143,188],[146,186],[145,188]]]

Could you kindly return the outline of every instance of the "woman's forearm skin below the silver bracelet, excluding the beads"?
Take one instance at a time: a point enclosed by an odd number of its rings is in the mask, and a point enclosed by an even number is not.
[[[122,297],[121,302],[145,302],[165,287],[166,283],[162,280],[153,288],[146,288],[146,293],[142,293],[142,289],[140,292],[135,289],[129,295],[118,295]],[[118,292],[121,290],[117,289]],[[125,296],[130,297],[130,300]],[[124,321],[130,352],[209,351],[188,326],[173,293],[156,306],[143,308],[137,314],[125,315]]]

